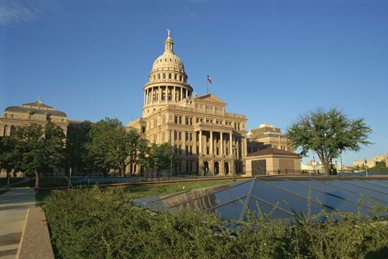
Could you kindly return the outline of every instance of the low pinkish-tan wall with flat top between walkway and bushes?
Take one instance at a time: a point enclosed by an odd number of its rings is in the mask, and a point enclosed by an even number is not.
[[[40,207],[27,212],[16,259],[54,259],[46,216]]]

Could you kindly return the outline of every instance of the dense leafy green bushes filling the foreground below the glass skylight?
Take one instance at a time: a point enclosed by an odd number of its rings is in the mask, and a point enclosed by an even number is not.
[[[43,207],[56,258],[388,258],[388,224],[375,217],[284,224],[263,215],[236,230],[214,215],[133,207],[126,192],[99,188],[54,191]]]

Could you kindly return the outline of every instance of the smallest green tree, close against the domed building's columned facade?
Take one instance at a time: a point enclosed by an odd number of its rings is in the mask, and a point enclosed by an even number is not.
[[[162,143],[160,145],[152,143],[147,157],[147,166],[154,168],[159,176],[160,171],[169,169],[171,164],[179,162],[179,155],[172,150],[169,143]]]

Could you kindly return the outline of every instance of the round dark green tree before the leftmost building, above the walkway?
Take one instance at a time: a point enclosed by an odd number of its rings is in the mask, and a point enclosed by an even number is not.
[[[15,169],[35,175],[35,188],[40,186],[40,173],[57,169],[65,154],[65,135],[61,128],[48,123],[30,124],[18,128],[14,152],[20,157]]]

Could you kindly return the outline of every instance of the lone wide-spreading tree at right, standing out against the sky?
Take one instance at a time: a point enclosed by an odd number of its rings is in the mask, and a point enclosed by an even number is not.
[[[329,175],[329,163],[344,151],[359,151],[368,141],[372,129],[363,119],[349,119],[338,109],[316,109],[301,115],[288,129],[289,144],[300,148],[300,155],[306,156],[310,150],[317,153]]]

